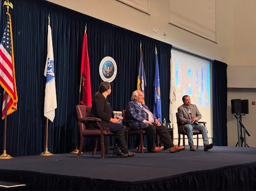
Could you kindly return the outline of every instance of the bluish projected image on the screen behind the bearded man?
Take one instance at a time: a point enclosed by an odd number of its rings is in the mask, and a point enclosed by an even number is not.
[[[210,68],[208,60],[185,56],[172,51],[175,62],[176,96],[190,96],[191,103],[210,107]],[[182,103],[182,102],[181,102]]]

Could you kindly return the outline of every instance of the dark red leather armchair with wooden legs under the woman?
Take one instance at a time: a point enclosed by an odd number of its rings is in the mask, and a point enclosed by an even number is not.
[[[89,117],[90,109],[91,109],[90,106],[76,105],[75,109],[76,109],[76,113],[77,113],[79,129],[80,129],[80,147],[79,147],[77,157],[80,157],[80,155],[81,155],[82,146],[83,146],[83,138],[85,136],[89,136],[89,137],[95,137],[95,139],[94,139],[95,146],[94,146],[94,149],[92,152],[92,156],[94,156],[96,153],[98,137],[100,137],[101,159],[104,159],[104,156],[105,156],[104,136],[109,136],[109,135],[114,135],[114,134],[111,133],[110,131],[106,132],[105,130],[103,130],[103,128],[99,124],[99,121],[101,121],[101,119]],[[87,125],[88,121],[94,121],[99,129],[93,129],[93,130],[86,129],[86,125]],[[105,149],[107,149],[107,148],[105,148]]]

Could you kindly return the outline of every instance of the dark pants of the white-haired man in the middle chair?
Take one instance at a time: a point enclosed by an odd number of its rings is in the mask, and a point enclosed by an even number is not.
[[[148,125],[148,127],[144,128],[143,130],[146,131],[146,141],[147,141],[147,150],[152,151],[155,148],[155,134],[158,134],[163,145],[164,149],[168,149],[173,147],[173,142],[166,130],[166,127],[163,125],[157,126],[155,123],[153,125]]]

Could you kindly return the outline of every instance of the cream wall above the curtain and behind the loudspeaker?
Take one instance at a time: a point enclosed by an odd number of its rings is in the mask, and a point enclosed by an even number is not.
[[[256,62],[254,62],[256,55],[256,25],[255,19],[253,19],[256,18],[256,11],[254,11],[256,0],[216,0],[217,43],[169,24],[169,0],[149,0],[150,15],[116,0],[48,1],[172,44],[204,57],[223,61],[228,67],[231,65],[256,66]],[[157,28],[158,33],[153,32],[153,28]],[[163,32],[166,32],[167,35],[164,36]],[[228,71],[232,71],[232,69],[228,69]],[[246,72],[242,76],[246,76]],[[244,87],[254,87],[256,82],[255,78],[251,77],[251,80],[243,81],[242,77],[236,77],[236,73],[228,72],[228,84],[231,82],[229,79],[238,79],[240,84],[238,87],[241,87],[241,89],[232,91],[228,89],[228,107],[230,99],[242,98],[252,100],[253,97],[255,98],[256,92],[254,89],[242,89],[243,84]],[[228,87],[233,87],[235,84],[236,83],[232,83],[232,85]],[[248,123],[248,126],[251,126],[251,128],[253,128],[253,114],[255,113],[255,108],[256,106],[250,106],[250,114],[243,119],[244,123]],[[236,133],[233,131],[233,124],[236,124],[236,120],[233,116],[230,117],[230,113],[230,109],[228,108],[228,145],[233,146],[237,139]],[[249,146],[255,147],[256,132],[251,131],[250,133],[251,141],[249,142]]]

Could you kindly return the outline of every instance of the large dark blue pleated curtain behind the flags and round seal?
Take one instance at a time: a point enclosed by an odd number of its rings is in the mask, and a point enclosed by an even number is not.
[[[152,110],[154,80],[154,48],[157,47],[162,101],[162,117],[168,120],[170,50],[171,45],[103,22],[44,0],[12,0],[14,62],[18,94],[17,111],[7,117],[7,153],[11,156],[38,155],[45,149],[43,116],[47,23],[50,14],[52,29],[57,109],[54,122],[49,122],[48,150],[51,153],[70,152],[75,147],[81,48],[87,23],[91,92],[97,91],[101,79],[100,60],[111,56],[117,64],[117,76],[111,83],[108,97],[114,110],[125,109],[136,89],[139,43],[142,42],[143,63],[147,86],[145,103]],[[6,8],[0,12],[2,36]],[[1,88],[2,93],[2,88]],[[2,100],[0,101],[2,102]],[[2,103],[1,103],[2,104]],[[0,121],[0,138],[4,121]],[[0,142],[2,151],[3,142]],[[85,148],[91,148],[86,140]]]

